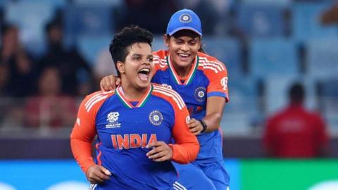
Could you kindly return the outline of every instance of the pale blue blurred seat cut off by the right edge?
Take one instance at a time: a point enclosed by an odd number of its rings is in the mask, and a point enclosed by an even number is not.
[[[307,74],[330,78],[338,74],[338,37],[312,39],[306,42]]]

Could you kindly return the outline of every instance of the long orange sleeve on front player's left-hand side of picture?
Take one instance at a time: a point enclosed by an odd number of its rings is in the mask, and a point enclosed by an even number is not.
[[[70,147],[75,160],[84,173],[90,166],[95,165],[92,158],[92,141],[96,135],[96,113],[102,103],[112,94],[113,91],[99,91],[86,96],[80,104],[77,119],[70,134]]]

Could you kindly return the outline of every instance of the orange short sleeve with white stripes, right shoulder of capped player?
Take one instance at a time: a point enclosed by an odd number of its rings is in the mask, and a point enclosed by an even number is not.
[[[227,68],[216,58],[204,53],[198,53],[199,65],[203,67],[204,74],[208,77],[209,85],[206,89],[208,97],[224,96],[229,101],[229,91],[227,88]]]

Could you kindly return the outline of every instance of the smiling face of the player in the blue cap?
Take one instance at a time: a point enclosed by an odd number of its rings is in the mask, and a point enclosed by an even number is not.
[[[171,37],[165,37],[165,45],[175,66],[189,68],[201,48],[201,37],[190,30],[180,30]]]

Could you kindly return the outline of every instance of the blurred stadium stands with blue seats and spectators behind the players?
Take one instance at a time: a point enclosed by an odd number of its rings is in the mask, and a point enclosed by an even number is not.
[[[306,106],[338,131],[338,26],[333,0],[1,0],[0,131],[68,137],[77,98],[114,72],[108,44],[125,25],[156,34],[180,8],[199,14],[204,50],[229,72],[226,135],[261,135],[265,118],[302,82]],[[333,10],[333,11],[332,11]],[[333,14],[330,14],[333,13]],[[63,130],[65,129],[65,130]],[[56,135],[55,132],[52,133]],[[34,134],[35,135],[35,134]]]

